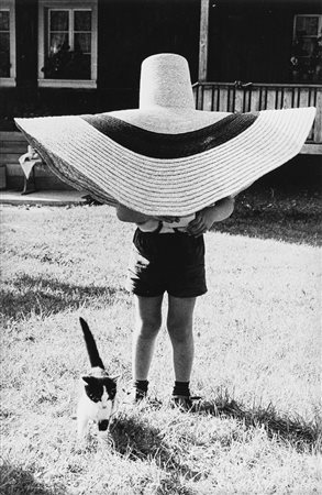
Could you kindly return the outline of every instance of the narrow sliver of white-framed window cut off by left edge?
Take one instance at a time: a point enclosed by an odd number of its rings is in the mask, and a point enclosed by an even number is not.
[[[15,85],[14,0],[1,1],[0,8],[0,84]]]

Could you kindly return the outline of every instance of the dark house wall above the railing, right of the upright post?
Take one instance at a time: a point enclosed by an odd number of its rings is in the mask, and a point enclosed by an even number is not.
[[[203,80],[297,82],[290,63],[295,15],[322,14],[321,0],[202,1],[210,6]]]

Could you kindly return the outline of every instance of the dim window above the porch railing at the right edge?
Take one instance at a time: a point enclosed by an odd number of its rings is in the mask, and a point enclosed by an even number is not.
[[[295,81],[322,80],[322,15],[296,15],[291,70]]]

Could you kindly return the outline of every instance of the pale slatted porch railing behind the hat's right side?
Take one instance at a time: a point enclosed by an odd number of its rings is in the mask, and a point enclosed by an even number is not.
[[[318,85],[196,82],[196,108],[221,112],[255,112],[317,107],[317,118],[302,153],[322,154],[322,87]]]

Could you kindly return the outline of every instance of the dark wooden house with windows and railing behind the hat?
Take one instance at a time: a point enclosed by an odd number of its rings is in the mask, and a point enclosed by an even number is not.
[[[22,188],[13,117],[135,108],[142,61],[184,55],[199,109],[320,108],[304,153],[322,153],[320,0],[1,0],[0,168]],[[37,187],[62,188],[46,166]]]

